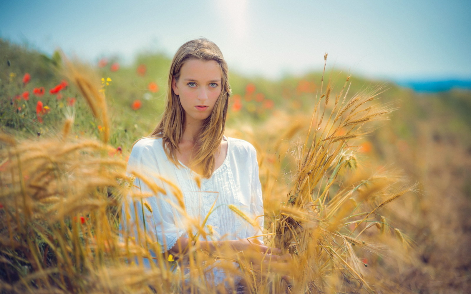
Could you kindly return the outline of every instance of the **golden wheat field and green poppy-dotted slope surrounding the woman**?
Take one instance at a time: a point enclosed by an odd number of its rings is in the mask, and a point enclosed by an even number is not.
[[[152,232],[120,232],[123,195],[152,197],[126,163],[160,120],[167,56],[86,65],[4,40],[0,53],[0,293],[224,293],[240,278],[246,293],[471,292],[470,92],[417,94],[328,56],[324,73],[230,72],[226,135],[257,149],[264,241],[292,256],[258,270],[250,252],[154,254]]]

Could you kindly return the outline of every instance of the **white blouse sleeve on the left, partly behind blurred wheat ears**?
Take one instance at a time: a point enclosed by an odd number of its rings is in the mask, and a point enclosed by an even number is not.
[[[147,194],[150,197],[133,199],[128,195],[122,205],[122,227],[128,236],[143,244],[146,232],[147,236],[158,242],[161,252],[170,250],[178,238],[186,233],[173,191],[159,178],[159,175],[163,175],[162,167],[165,167],[167,161],[166,157],[158,156],[153,145],[136,143],[129,157],[127,173],[136,171],[146,180],[136,177],[131,194]],[[155,193],[146,181],[151,186],[156,184],[162,188],[162,192]]]

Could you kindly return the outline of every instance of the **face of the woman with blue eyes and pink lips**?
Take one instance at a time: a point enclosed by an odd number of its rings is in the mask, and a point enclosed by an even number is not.
[[[221,94],[222,73],[214,60],[190,59],[180,69],[180,78],[173,79],[172,89],[179,95],[186,122],[202,121],[210,116]]]

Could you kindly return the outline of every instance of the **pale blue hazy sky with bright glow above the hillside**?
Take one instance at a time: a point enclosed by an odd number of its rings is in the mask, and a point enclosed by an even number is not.
[[[126,62],[204,36],[230,69],[277,78],[328,65],[378,79],[471,79],[469,0],[2,0],[0,37]]]

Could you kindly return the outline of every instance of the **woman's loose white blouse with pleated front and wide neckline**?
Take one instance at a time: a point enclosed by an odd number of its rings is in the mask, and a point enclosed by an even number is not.
[[[153,194],[152,197],[144,199],[152,208],[152,213],[146,207],[141,207],[140,201],[125,201],[131,206],[128,210],[131,213],[130,223],[123,223],[124,226],[139,225],[143,228],[145,222],[147,233],[155,236],[155,241],[161,245],[162,252],[165,252],[174,246],[181,236],[188,237],[189,230],[193,234],[197,233],[196,228],[203,223],[214,204],[204,226],[208,235],[200,235],[200,240],[235,240],[261,235],[263,203],[255,148],[244,140],[226,140],[226,159],[209,179],[199,176],[181,162],[179,167],[174,165],[163,150],[162,139],[139,140],[132,148],[128,173],[137,171],[145,175],[166,193],[155,194],[144,181],[136,178],[134,185],[138,191]],[[180,209],[175,187],[165,180],[162,181],[162,178],[174,183],[182,192],[185,210]],[[197,178],[200,180],[200,186],[195,180]],[[255,219],[259,227],[254,228],[229,209],[227,206],[230,204]],[[126,203],[123,204],[123,213],[124,205]],[[134,213],[134,209],[139,213]],[[135,215],[138,215],[137,222]],[[262,237],[258,238],[262,241]]]

